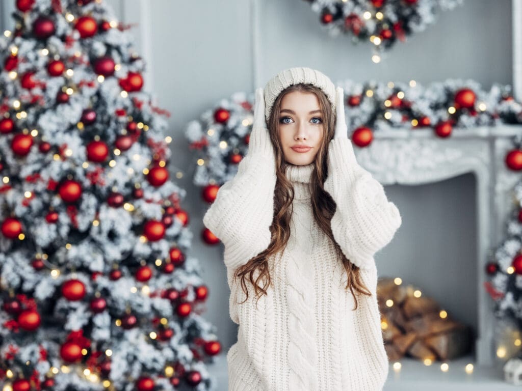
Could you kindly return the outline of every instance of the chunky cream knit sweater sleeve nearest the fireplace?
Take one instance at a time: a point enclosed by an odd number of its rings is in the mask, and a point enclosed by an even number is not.
[[[355,265],[371,267],[374,254],[394,237],[402,220],[383,186],[355,160],[348,138],[334,138],[328,149],[325,190],[337,204],[331,230]]]

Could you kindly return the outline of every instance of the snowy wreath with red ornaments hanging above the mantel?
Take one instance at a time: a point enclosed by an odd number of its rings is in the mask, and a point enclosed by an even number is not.
[[[353,43],[370,42],[374,61],[378,53],[388,50],[397,40],[424,31],[435,22],[436,6],[450,10],[463,0],[304,0],[319,14],[330,35],[345,33]]]

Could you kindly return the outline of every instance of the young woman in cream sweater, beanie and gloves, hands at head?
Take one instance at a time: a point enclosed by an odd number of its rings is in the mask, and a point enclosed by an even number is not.
[[[258,88],[248,153],[203,221],[239,324],[229,391],[382,390],[373,257],[401,217],[355,160],[340,87],[300,67]]]

